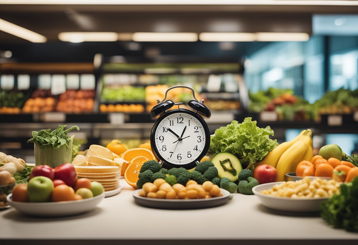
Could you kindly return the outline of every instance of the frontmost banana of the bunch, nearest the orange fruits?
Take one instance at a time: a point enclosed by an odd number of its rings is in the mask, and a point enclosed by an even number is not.
[[[311,140],[312,131],[307,129],[300,139],[282,154],[276,166],[278,181],[285,181],[285,174],[291,169],[296,169],[297,164],[310,147]]]

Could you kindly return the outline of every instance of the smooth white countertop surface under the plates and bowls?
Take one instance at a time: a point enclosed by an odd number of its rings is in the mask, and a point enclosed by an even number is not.
[[[214,208],[160,210],[136,205],[132,197],[134,188],[124,178],[120,182],[123,186],[120,193],[105,198],[95,210],[77,216],[34,218],[14,208],[1,211],[0,243],[1,239],[86,240],[83,244],[87,245],[101,243],[93,240],[184,239],[347,240],[345,245],[358,244],[357,233],[333,229],[318,216],[269,210],[254,195],[235,193],[226,205]]]

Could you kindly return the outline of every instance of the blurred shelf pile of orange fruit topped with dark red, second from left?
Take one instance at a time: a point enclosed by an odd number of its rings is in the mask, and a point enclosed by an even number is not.
[[[26,100],[22,109],[24,113],[48,112],[55,109],[55,98],[51,95],[51,90],[35,90],[31,97]]]

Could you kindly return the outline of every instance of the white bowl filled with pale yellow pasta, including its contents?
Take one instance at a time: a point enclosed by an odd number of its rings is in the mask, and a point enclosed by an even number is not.
[[[333,179],[311,179],[260,184],[252,188],[262,205],[286,212],[318,212],[323,201],[339,190]]]

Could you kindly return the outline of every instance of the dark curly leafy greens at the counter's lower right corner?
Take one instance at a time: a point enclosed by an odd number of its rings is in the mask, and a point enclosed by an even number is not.
[[[358,232],[358,177],[321,204],[321,217],[335,228]]]

